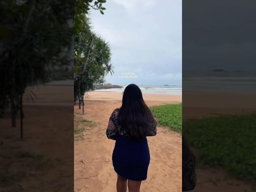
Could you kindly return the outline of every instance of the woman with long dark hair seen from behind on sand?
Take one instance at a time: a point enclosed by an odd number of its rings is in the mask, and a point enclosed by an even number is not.
[[[140,192],[150,162],[146,136],[156,135],[156,121],[135,84],[125,88],[122,106],[112,112],[106,135],[116,140],[112,162],[117,192],[126,192],[127,185],[129,192]]]

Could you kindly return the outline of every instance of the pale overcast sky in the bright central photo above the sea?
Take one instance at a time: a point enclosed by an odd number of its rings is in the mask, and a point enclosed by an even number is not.
[[[182,1],[107,0],[91,11],[96,34],[109,42],[114,74],[106,83],[182,84]],[[135,78],[122,78],[122,73]]]

